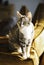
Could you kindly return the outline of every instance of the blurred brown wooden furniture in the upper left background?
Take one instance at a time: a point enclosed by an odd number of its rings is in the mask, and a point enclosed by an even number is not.
[[[14,15],[14,5],[0,5],[0,20],[7,19]]]

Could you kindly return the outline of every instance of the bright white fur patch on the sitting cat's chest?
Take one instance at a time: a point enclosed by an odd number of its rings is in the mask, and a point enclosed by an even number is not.
[[[23,34],[25,39],[29,39],[32,36],[32,33],[31,33],[32,32],[32,27],[31,26],[28,26],[28,27],[25,26],[24,28],[22,28],[20,30],[20,32]]]

